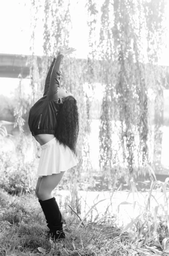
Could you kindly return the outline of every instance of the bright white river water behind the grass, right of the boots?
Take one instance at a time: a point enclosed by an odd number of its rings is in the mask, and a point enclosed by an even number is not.
[[[102,220],[106,217],[108,224],[117,224],[118,227],[125,227],[130,221],[136,218],[139,214],[148,214],[148,206],[150,202],[150,212],[152,218],[155,215],[155,206],[160,205],[158,208],[158,215],[164,215],[164,211],[167,211],[167,205],[165,201],[165,195],[161,190],[154,190],[149,198],[149,192],[135,192],[129,193],[127,191],[116,192],[86,192],[79,191],[81,213],[80,217],[84,218],[86,213],[96,203],[98,203],[92,211],[86,216],[87,221],[94,221],[97,217],[98,220]],[[167,198],[169,192],[166,193]],[[60,209],[64,212],[67,205],[68,198],[71,200],[71,193],[66,190],[54,190],[54,196],[58,203],[60,203]],[[104,201],[101,201],[104,200]],[[167,200],[168,201],[168,200]],[[125,202],[125,204],[123,204]],[[135,202],[135,207],[133,202]],[[164,207],[164,209],[162,209]]]

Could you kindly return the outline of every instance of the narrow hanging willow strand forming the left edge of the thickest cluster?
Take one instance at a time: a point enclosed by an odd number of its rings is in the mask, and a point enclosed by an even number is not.
[[[100,116],[100,169],[102,170],[104,180],[111,186],[115,185],[115,169],[114,163],[117,160],[117,151],[113,148],[113,134],[115,133],[114,123],[114,102],[113,95],[115,92],[115,83],[117,79],[118,67],[114,63],[113,52],[113,6],[110,5],[109,0],[105,0],[101,7],[101,27],[100,27],[100,41],[98,49],[102,59],[100,71],[102,73],[102,85],[105,91],[103,94],[102,110]],[[117,73],[116,73],[117,72]]]

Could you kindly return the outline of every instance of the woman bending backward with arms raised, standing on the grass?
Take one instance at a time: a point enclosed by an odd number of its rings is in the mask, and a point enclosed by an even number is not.
[[[37,169],[36,195],[49,227],[48,237],[65,239],[62,215],[53,189],[66,170],[78,163],[76,143],[79,132],[77,101],[65,87],[60,87],[63,56],[75,49],[61,51],[54,58],[46,77],[44,94],[29,111],[29,128],[42,148]]]

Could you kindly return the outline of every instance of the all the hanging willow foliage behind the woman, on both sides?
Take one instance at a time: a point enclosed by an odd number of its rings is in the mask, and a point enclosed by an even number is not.
[[[152,163],[149,149],[149,93],[156,94],[156,111],[163,110],[163,88],[166,84],[164,67],[158,67],[163,38],[166,0],[86,0],[89,26],[89,55],[87,60],[65,58],[61,86],[64,85],[77,99],[80,113],[78,159],[71,171],[71,180],[90,178],[91,108],[94,96],[83,90],[87,82],[94,90],[101,82],[104,93],[100,113],[100,173],[110,186],[120,177],[129,180]],[[32,0],[32,38],[30,50],[30,78],[32,96],[30,106],[42,95],[47,70],[52,58],[63,47],[69,47],[72,28],[70,1]],[[44,10],[43,52],[41,67],[34,54],[35,28],[38,11]],[[98,37],[98,28],[99,37]],[[19,113],[19,112],[18,112]],[[160,124],[156,120],[156,150],[161,141]],[[159,121],[160,120],[160,121]]]

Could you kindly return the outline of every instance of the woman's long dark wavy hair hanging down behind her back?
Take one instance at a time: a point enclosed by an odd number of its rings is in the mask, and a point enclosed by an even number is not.
[[[77,101],[73,96],[67,96],[60,104],[57,113],[57,129],[55,137],[64,147],[68,146],[77,156],[76,143],[79,133],[79,113]]]

